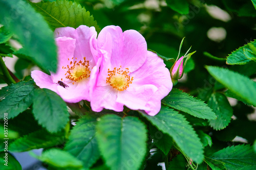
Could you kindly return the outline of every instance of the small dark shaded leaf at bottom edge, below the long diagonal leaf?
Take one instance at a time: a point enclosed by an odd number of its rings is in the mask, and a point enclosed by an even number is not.
[[[187,161],[182,154],[177,155],[169,163],[168,170],[186,170]]]

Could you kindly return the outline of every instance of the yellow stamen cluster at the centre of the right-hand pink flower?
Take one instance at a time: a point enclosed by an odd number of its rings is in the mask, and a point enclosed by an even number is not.
[[[126,90],[130,84],[133,82],[133,77],[131,78],[129,74],[129,68],[121,70],[120,68],[114,68],[114,70],[108,70],[108,77],[106,78],[106,83],[111,85],[115,90],[123,91]]]

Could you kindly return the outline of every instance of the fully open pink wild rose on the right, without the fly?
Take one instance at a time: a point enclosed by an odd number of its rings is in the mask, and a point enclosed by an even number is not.
[[[122,32],[120,27],[107,26],[99,33],[97,44],[102,62],[92,110],[122,111],[125,105],[156,115],[173,84],[163,60],[147,51],[144,37],[135,30]]]

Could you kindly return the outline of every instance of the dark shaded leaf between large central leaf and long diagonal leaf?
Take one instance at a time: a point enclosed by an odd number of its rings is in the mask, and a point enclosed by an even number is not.
[[[173,138],[166,133],[157,130],[154,126],[150,126],[150,134],[157,148],[167,155],[170,148],[172,148]]]

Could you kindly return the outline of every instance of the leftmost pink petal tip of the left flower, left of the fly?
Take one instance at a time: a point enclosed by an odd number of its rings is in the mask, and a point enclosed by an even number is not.
[[[58,93],[57,90],[57,84],[53,83],[53,80],[51,76],[45,74],[42,71],[34,70],[31,72],[31,77],[34,79],[35,84],[40,88],[48,88],[56,93]]]

